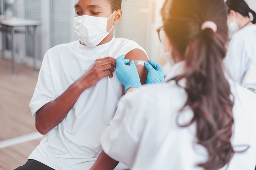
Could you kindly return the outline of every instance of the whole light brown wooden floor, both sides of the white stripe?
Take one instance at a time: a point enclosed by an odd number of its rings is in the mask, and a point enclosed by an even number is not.
[[[16,64],[12,76],[11,62],[0,57],[0,141],[35,132],[35,119],[29,103],[37,83],[38,71]],[[26,162],[41,139],[0,149],[0,170],[12,170]]]

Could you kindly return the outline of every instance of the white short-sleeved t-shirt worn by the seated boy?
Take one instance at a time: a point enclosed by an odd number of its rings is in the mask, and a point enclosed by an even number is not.
[[[79,41],[53,47],[45,54],[30,103],[33,116],[39,108],[63,94],[96,59],[117,58],[136,48],[144,51],[134,41],[115,37],[93,48]],[[113,78],[105,77],[86,89],[67,117],[49,131],[28,159],[56,170],[90,169],[102,151],[99,139],[113,119],[123,90],[116,71],[113,74]]]

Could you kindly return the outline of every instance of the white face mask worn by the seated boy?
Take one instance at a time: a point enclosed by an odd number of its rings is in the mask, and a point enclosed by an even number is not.
[[[75,17],[74,27],[79,40],[88,47],[95,47],[101,43],[114,28],[113,25],[112,29],[109,32],[107,31],[108,20],[114,13],[109,18],[89,15]]]

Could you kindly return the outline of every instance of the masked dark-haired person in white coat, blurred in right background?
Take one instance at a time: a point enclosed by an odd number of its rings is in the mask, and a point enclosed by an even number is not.
[[[233,80],[245,85],[243,80],[246,72],[256,64],[256,13],[244,0],[227,0],[226,4],[229,8],[229,31],[234,34],[225,64]],[[252,75],[255,74],[256,69]]]

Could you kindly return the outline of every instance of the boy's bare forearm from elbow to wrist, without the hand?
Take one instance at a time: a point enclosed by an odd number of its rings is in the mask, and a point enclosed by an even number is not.
[[[35,115],[38,132],[45,135],[62,122],[84,90],[86,88],[77,80],[62,95],[41,107]]]

